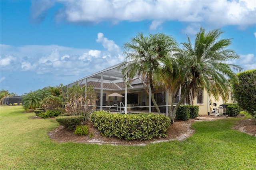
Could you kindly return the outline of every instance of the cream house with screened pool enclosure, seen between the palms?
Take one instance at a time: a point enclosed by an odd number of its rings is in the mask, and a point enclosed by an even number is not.
[[[98,96],[96,106],[100,110],[115,110],[122,113],[132,112],[134,110],[156,112],[156,108],[151,101],[151,93],[147,92],[147,89],[145,89],[140,77],[135,77],[131,81],[130,85],[126,86],[126,82],[121,73],[122,68],[118,69],[119,65],[120,64],[108,67],[102,71],[98,71],[74,81],[66,86],[72,87],[76,83],[81,86],[93,86]],[[123,97],[109,96],[115,92]],[[154,93],[154,98],[161,113],[164,113],[166,116],[168,115],[168,108],[172,103],[172,96],[173,94],[162,89],[157,89]],[[178,103],[179,99],[180,92],[175,103]],[[230,99],[226,99],[225,101],[231,101],[231,92]],[[209,97],[204,89],[201,89],[198,92],[197,97],[194,99],[194,105],[199,106],[199,115],[207,115],[208,113],[211,113],[214,108],[218,109],[218,106],[223,102],[223,99],[215,101],[212,96]],[[184,103],[186,103],[186,101]]]

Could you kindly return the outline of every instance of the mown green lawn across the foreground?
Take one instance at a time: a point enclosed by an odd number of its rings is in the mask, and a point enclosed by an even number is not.
[[[21,106],[0,107],[0,169],[256,169],[256,138],[232,130],[239,118],[196,122],[190,138],[146,146],[51,140],[55,119],[30,119]]]

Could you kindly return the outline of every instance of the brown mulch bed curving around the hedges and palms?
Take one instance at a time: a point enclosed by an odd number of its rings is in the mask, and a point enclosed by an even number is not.
[[[244,117],[244,115],[238,115],[237,117]],[[214,121],[216,119],[225,118],[227,117],[202,115],[197,119],[190,119],[188,121],[174,121],[174,123],[170,125],[170,127],[167,129],[167,138],[154,138],[152,140],[127,141],[124,139],[102,136],[100,134],[100,131],[93,127],[92,123],[90,122],[87,125],[89,126],[89,133],[93,134],[92,138],[90,138],[89,135],[78,136],[74,134],[72,130],[67,130],[61,126],[48,132],[48,135],[50,136],[50,138],[56,140],[57,142],[82,142],[112,145],[146,145],[149,143],[164,142],[169,140],[184,140],[194,133],[194,130],[191,128],[191,124],[194,121]],[[242,132],[256,136],[255,119],[241,119],[234,127],[232,127],[232,129],[240,130]]]

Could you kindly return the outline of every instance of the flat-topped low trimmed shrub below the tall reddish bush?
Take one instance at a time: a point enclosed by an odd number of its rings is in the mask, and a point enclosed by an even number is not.
[[[76,125],[81,125],[84,121],[83,116],[60,116],[56,121],[67,129],[74,129]]]

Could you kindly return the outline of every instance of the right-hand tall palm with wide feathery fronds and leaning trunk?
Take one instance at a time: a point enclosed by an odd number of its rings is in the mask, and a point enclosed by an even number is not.
[[[189,83],[174,108],[172,122],[178,106],[184,102],[189,93],[195,97],[199,87],[206,89],[207,93],[212,94],[215,99],[219,96],[225,98],[228,95],[228,88],[231,87],[228,80],[237,78],[233,69],[241,71],[242,68],[226,63],[228,60],[240,57],[234,50],[227,48],[231,44],[231,39],[219,40],[222,34],[220,29],[206,33],[204,28],[200,28],[194,45],[188,37],[188,42],[182,43],[184,48],[176,53],[176,56],[183,60],[183,65],[180,66],[189,78]]]

